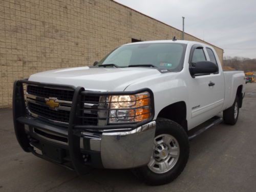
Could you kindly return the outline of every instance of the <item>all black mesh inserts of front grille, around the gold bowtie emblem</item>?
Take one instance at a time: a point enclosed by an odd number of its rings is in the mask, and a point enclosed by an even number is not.
[[[72,101],[74,91],[71,90],[63,90],[63,89],[54,89],[54,88],[45,88],[45,87],[39,87],[39,86],[27,86],[27,93],[30,95],[38,96],[41,98],[49,99],[50,97],[57,98],[61,101]],[[28,95],[29,97],[29,95]],[[33,100],[32,100],[33,99]],[[69,116],[70,111],[69,110],[63,110],[58,109],[56,110],[50,109],[48,106],[45,105],[44,102],[37,102],[38,98],[32,98],[28,100],[28,109],[32,113],[32,115],[38,115],[39,117],[42,117],[44,120],[48,120],[52,123],[62,124],[64,126],[67,126],[69,123]],[[99,103],[100,96],[86,96],[82,98],[82,102],[88,103],[88,104],[98,104]],[[33,101],[33,102],[31,102]],[[59,103],[60,106],[70,107],[71,109],[71,103]],[[83,125],[97,125],[98,124],[98,115],[92,114],[90,108],[84,107],[84,110],[87,110],[86,112],[81,111],[81,114],[79,115],[81,117],[81,123]],[[89,111],[89,112],[88,112]],[[53,122],[55,121],[55,122]]]

